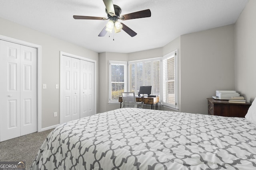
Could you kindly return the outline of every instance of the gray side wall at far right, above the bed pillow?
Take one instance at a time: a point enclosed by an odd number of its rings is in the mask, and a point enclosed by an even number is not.
[[[250,0],[235,24],[235,86],[247,102],[256,97],[256,0]]]

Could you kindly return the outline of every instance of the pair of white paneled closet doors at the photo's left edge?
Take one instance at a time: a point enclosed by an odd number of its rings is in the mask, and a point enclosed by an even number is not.
[[[0,141],[37,131],[37,50],[0,40]]]

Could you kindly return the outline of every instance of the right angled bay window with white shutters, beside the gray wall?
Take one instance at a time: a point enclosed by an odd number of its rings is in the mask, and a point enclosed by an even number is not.
[[[163,57],[163,104],[177,108],[177,50]]]

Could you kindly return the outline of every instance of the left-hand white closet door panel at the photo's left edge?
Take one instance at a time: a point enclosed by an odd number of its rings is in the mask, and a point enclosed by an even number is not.
[[[0,40],[0,141],[20,136],[20,45]]]

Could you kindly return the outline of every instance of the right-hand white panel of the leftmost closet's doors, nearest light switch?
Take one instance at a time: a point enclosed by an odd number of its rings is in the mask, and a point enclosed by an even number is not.
[[[37,131],[37,49],[20,46],[20,135]]]

